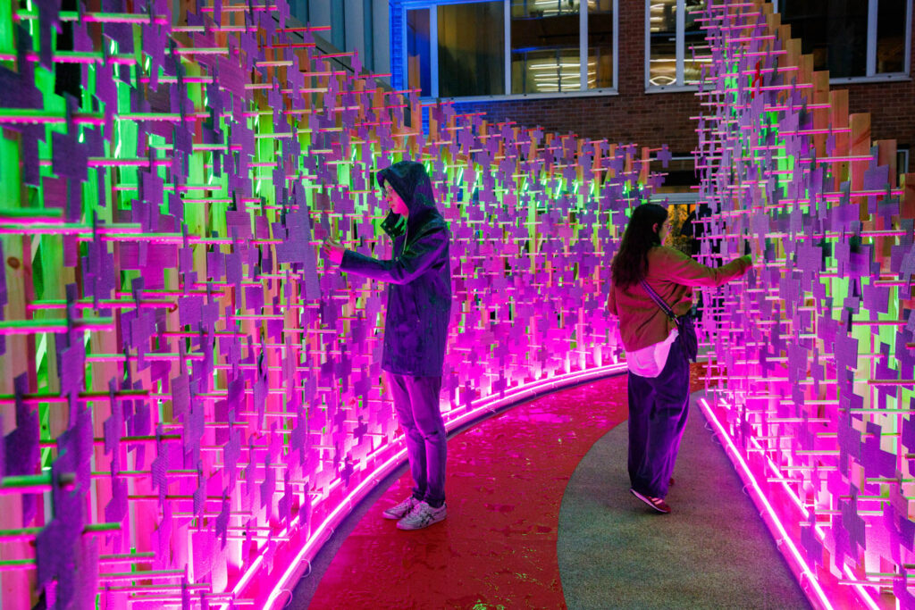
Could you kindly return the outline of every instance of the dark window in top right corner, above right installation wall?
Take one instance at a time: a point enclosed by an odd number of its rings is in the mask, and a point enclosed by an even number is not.
[[[906,70],[906,0],[781,0],[780,9],[813,70],[831,78]]]

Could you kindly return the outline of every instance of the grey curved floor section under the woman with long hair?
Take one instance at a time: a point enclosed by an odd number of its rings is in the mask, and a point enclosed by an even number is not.
[[[584,456],[565,488],[557,556],[569,608],[809,608],[695,392],[661,515],[629,492],[628,425]]]

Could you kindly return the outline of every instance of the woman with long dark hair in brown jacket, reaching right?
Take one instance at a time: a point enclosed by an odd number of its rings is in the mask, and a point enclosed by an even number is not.
[[[607,301],[610,314],[619,317],[629,367],[630,491],[661,513],[671,512],[664,498],[689,408],[687,353],[694,347],[692,322],[673,319],[665,310],[688,318],[693,286],[720,286],[752,265],[742,256],[717,269],[706,267],[662,245],[669,229],[667,210],[659,205],[645,203],[632,211],[610,264]]]

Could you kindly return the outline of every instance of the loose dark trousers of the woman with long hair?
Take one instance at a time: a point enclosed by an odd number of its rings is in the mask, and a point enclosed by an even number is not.
[[[629,374],[632,488],[665,498],[689,411],[689,362],[677,338],[655,378]]]

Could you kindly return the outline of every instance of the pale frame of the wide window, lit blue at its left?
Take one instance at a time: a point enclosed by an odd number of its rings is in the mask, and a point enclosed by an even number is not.
[[[440,100],[447,102],[508,102],[512,100],[545,100],[551,98],[589,97],[595,95],[619,94],[619,2],[613,2],[613,86],[601,89],[584,89],[577,91],[559,91],[550,93],[501,93],[498,95],[472,95],[464,97],[439,97],[438,96],[438,6],[441,5],[467,5],[479,4],[491,0],[404,0],[401,3],[402,16],[400,19],[400,37],[404,48],[401,60],[401,74],[404,83],[409,82],[409,58],[406,53],[406,15],[407,11],[426,9],[429,11],[429,91],[430,95],[421,96],[422,100]],[[504,68],[505,91],[511,91],[511,0],[502,0],[504,6]],[[579,48],[579,74],[581,82],[587,87],[587,0],[582,0],[578,11],[578,48]],[[435,10],[434,10],[435,9]]]

